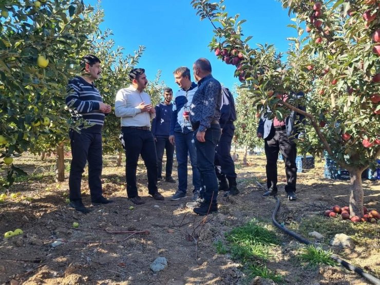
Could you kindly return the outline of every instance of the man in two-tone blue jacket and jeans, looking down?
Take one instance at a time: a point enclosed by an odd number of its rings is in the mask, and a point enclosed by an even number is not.
[[[198,199],[201,189],[201,177],[197,168],[197,151],[193,140],[193,130],[188,115],[193,96],[198,85],[191,81],[190,70],[181,66],[174,72],[176,83],[181,88],[176,93],[174,99],[172,119],[170,121],[169,141],[176,146],[177,171],[178,171],[178,190],[170,198],[176,201],[186,197],[187,192],[187,155],[193,170],[193,200]]]

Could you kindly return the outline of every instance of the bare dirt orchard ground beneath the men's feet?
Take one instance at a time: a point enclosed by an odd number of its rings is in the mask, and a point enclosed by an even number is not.
[[[240,154],[240,157],[242,155]],[[176,184],[159,182],[165,201],[148,197],[143,163],[139,163],[138,187],[146,204],[132,205],[126,199],[124,167],[115,166],[116,157],[106,157],[103,189],[115,203],[90,206],[83,215],[66,206],[68,179],[55,183],[52,177],[54,159],[24,155],[15,161],[30,177],[12,186],[17,198],[0,204],[0,233],[21,228],[24,234],[0,241],[0,283],[5,284],[246,284],[241,264],[230,255],[217,254],[213,243],[224,241],[224,233],[253,218],[271,224],[275,200],[262,197],[265,158],[249,156],[247,166],[237,162],[240,194],[233,198],[218,197],[219,212],[206,218],[186,209],[191,201],[191,178],[188,196],[169,201]],[[68,165],[67,158],[66,165]],[[305,217],[320,216],[335,204],[347,205],[349,182],[323,178],[323,163],[297,180],[296,201],[288,201],[283,190],[283,162],[279,167],[279,198],[277,220],[289,224]],[[189,168],[190,169],[190,168]],[[189,171],[191,174],[191,171]],[[90,205],[85,172],[82,190],[85,205]],[[174,178],[177,179],[176,168]],[[66,177],[68,171],[66,169]],[[259,182],[259,183],[257,183]],[[380,210],[380,181],[363,182],[365,205]],[[222,193],[223,194],[223,193]],[[24,197],[32,199],[25,199]],[[29,201],[28,201],[29,200]],[[72,223],[78,222],[78,229]],[[369,224],[379,228],[379,225]],[[143,231],[132,235],[128,231]],[[144,232],[146,231],[146,232]],[[359,275],[342,267],[322,266],[315,270],[302,268],[294,254],[301,244],[275,230],[281,245],[274,252],[268,268],[281,274],[288,284],[368,284]],[[310,229],[310,232],[314,229]],[[332,229],[333,235],[333,229]],[[378,231],[380,234],[380,230]],[[199,236],[196,243],[194,238]],[[308,237],[306,237],[308,238]],[[57,239],[63,243],[55,248]],[[380,238],[368,246],[353,250],[333,249],[348,262],[367,269],[380,277]],[[149,265],[157,257],[165,257],[168,267],[154,273]]]

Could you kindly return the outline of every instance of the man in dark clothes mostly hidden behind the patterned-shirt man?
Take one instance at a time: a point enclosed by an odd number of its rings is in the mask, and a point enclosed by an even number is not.
[[[239,194],[236,184],[235,163],[231,158],[231,143],[235,132],[235,120],[234,97],[228,88],[222,86],[222,107],[219,119],[222,135],[216,147],[215,172],[219,180],[219,191],[227,191],[223,195],[224,197]]]

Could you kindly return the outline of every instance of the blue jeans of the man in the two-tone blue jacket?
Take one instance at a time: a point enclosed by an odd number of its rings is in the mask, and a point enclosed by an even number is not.
[[[182,132],[175,131],[174,141],[178,163],[178,191],[183,193],[187,191],[187,154],[190,155],[190,162],[193,169],[193,192],[199,191],[201,188],[201,177],[197,168],[197,151],[194,146],[193,132],[183,134]]]

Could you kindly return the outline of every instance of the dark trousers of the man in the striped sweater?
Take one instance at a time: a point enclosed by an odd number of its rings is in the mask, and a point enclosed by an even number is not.
[[[69,176],[70,201],[81,201],[81,181],[88,161],[88,186],[91,201],[102,196],[102,135],[91,132],[69,131],[71,145],[71,166]]]

